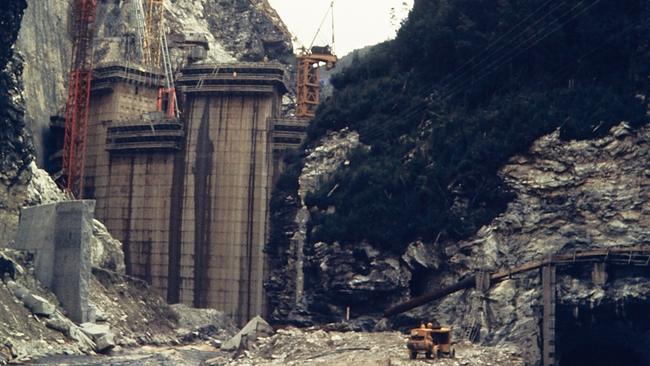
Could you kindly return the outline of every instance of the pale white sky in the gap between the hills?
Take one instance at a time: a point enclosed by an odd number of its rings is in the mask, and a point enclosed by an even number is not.
[[[296,48],[309,46],[331,0],[269,0],[291,33]],[[337,0],[334,2],[335,53],[341,57],[355,49],[395,37],[413,0]],[[394,10],[393,10],[394,9]],[[327,17],[314,45],[331,43],[332,20]]]

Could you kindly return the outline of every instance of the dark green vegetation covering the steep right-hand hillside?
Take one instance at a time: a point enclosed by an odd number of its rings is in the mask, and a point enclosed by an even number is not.
[[[309,195],[336,207],[310,240],[400,253],[466,238],[503,212],[497,171],[537,138],[646,123],[647,19],[639,0],[416,1],[394,41],[332,78],[310,127],[308,144],[349,127],[369,146]]]

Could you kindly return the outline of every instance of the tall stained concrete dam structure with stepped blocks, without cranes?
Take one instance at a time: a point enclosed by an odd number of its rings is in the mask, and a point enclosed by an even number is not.
[[[239,323],[264,315],[272,183],[307,125],[280,116],[285,68],[187,66],[178,119],[150,112],[161,79],[126,65],[95,70],[84,197],[122,241],[127,272],[169,302]]]

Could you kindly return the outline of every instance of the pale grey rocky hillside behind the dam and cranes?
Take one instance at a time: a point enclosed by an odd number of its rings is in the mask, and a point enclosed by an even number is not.
[[[50,116],[59,113],[67,95],[70,67],[70,0],[27,0],[16,50],[25,62],[26,122],[34,132],[39,165],[44,162]],[[99,1],[95,62],[135,60],[125,34],[135,28],[130,0]],[[208,62],[285,60],[292,54],[291,35],[266,0],[176,0],[165,2],[169,39],[186,33],[208,37]],[[173,44],[170,46],[173,47]],[[181,52],[172,48],[177,64]]]

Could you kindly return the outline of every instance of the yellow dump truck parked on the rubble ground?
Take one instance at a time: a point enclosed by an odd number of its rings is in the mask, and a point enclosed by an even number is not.
[[[412,329],[406,347],[411,359],[417,358],[418,353],[424,353],[426,358],[456,356],[452,347],[451,328],[434,327],[431,323]]]

